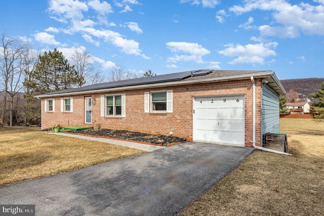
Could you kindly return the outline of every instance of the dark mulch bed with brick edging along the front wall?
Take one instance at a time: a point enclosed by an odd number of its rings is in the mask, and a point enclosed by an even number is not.
[[[112,129],[84,130],[84,131],[77,131],[77,132],[70,132],[70,133],[131,140],[135,142],[144,142],[144,143],[151,143],[156,145],[158,144],[168,145],[172,143],[186,142],[185,138],[180,138],[180,137],[151,135],[151,134],[144,134],[144,133],[130,132],[130,131],[116,131]]]

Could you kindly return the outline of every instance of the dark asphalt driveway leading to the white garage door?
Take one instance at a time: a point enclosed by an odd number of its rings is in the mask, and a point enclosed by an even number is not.
[[[253,148],[186,143],[0,187],[0,204],[36,215],[176,215]]]

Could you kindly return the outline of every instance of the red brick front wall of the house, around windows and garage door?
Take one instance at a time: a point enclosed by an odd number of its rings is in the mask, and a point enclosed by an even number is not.
[[[256,79],[256,140],[261,141],[261,80]],[[158,90],[173,90],[173,113],[145,113],[144,92]],[[105,94],[126,94],[126,117],[101,117],[100,96]],[[64,126],[93,126],[110,129],[125,129],[128,131],[173,135],[192,140],[192,108],[193,97],[218,95],[245,95],[245,145],[252,146],[253,130],[253,90],[250,79],[214,82],[203,84],[188,84],[169,88],[151,88],[123,92],[81,95],[73,97],[73,112],[61,112],[61,98],[55,99],[55,112],[44,112],[43,99],[43,128],[54,124]],[[85,123],[85,97],[95,97],[96,104],[92,106],[92,124]],[[67,98],[67,97],[65,97]]]

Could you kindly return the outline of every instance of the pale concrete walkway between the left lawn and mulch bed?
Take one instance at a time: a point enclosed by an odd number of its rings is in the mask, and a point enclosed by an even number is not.
[[[165,146],[154,146],[154,145],[148,145],[148,144],[142,144],[142,143],[128,142],[128,141],[123,141],[123,140],[114,140],[114,139],[98,138],[98,137],[87,137],[87,136],[74,135],[74,134],[65,134],[65,133],[48,133],[48,134],[74,137],[74,138],[98,141],[98,142],[103,142],[103,143],[110,143],[113,145],[125,146],[125,147],[129,147],[129,148],[133,148],[133,149],[140,149],[140,150],[144,150],[144,151],[148,151],[148,152],[165,148]]]

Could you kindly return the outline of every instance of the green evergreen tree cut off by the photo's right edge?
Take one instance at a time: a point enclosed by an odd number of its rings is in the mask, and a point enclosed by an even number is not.
[[[316,122],[324,122],[324,82],[319,85],[317,93],[311,94],[311,96],[318,100],[318,102],[312,103],[312,110],[315,113],[314,120]]]

